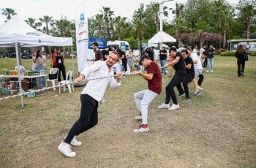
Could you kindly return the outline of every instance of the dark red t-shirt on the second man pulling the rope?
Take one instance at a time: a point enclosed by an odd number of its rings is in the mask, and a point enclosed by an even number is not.
[[[154,93],[161,93],[162,91],[162,75],[159,66],[156,62],[152,61],[146,68],[148,74],[153,74],[152,80],[148,80],[148,90],[154,91]]]

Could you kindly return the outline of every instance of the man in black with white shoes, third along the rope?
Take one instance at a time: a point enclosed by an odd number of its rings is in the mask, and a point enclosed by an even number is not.
[[[171,61],[170,64],[166,64],[165,68],[167,68],[168,66],[173,66],[173,69],[175,69],[176,72],[172,80],[170,80],[170,83],[168,83],[165,88],[165,102],[161,104],[158,108],[168,108],[168,110],[176,110],[179,108],[179,104],[176,98],[174,87],[179,83],[182,83],[185,93],[187,93],[187,95],[189,94],[189,88],[187,87],[186,83],[187,73],[183,56],[181,55],[181,53],[177,52],[175,47],[170,48],[170,56],[174,57],[174,60]],[[173,101],[173,105],[171,107],[169,104],[170,98]]]

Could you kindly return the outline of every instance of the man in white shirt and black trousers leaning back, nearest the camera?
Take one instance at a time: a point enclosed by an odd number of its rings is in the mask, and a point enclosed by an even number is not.
[[[58,149],[67,157],[75,157],[76,153],[72,152],[70,145],[80,146],[82,142],[76,139],[78,134],[83,131],[91,129],[98,123],[98,102],[105,102],[103,96],[108,84],[111,88],[116,88],[121,85],[121,74],[116,75],[116,79],[113,77],[112,66],[118,61],[117,53],[110,53],[106,61],[96,61],[88,69],[83,70],[80,73],[80,77],[75,79],[76,84],[82,83],[85,78],[89,76],[89,83],[83,88],[80,95],[81,110],[80,118],[74,123],[70,129],[67,137],[61,142]],[[102,77],[99,80],[90,80],[90,78]]]

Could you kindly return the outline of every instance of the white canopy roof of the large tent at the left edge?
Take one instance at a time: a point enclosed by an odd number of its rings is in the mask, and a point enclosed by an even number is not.
[[[24,20],[12,17],[0,26],[0,47],[72,46],[72,38],[52,37],[29,26]]]

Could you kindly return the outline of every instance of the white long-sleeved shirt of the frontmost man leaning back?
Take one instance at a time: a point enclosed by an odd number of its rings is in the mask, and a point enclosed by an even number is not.
[[[106,61],[96,61],[94,64],[83,70],[80,74],[83,74],[89,83],[83,88],[81,94],[88,94],[98,102],[105,102],[103,96],[108,84],[111,88],[116,88],[121,85],[121,82],[117,83],[113,75],[113,69],[109,70]],[[90,80],[98,77],[105,77],[99,80]]]

